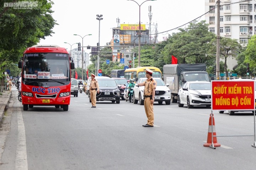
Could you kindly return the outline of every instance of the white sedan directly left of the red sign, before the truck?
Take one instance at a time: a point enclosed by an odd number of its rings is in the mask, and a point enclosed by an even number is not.
[[[211,83],[206,81],[189,81],[178,91],[178,107],[187,104],[193,106],[211,106]]]

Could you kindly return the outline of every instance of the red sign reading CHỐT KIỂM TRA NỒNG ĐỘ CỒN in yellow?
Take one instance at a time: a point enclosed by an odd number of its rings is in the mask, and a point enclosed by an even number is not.
[[[212,110],[255,109],[255,80],[213,80]]]

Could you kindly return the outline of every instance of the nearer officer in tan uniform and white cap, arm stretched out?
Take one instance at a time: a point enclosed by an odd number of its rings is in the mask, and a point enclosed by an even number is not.
[[[148,123],[142,125],[144,127],[154,127],[154,111],[153,104],[155,100],[156,81],[152,78],[153,71],[146,68],[146,80],[143,83],[139,83],[138,86],[145,86],[144,88],[144,108],[146,116],[148,117]]]

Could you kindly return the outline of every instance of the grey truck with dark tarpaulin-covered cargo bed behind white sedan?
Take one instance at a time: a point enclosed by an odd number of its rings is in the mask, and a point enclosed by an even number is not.
[[[206,64],[166,64],[163,67],[164,82],[171,90],[171,102],[178,100],[178,91],[187,81],[210,81]]]

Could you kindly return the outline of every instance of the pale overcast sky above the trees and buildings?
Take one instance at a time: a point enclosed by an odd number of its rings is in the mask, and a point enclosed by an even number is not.
[[[151,24],[157,23],[158,41],[163,37],[168,37],[173,32],[169,31],[182,26],[205,13],[205,2],[202,0],[134,0],[140,6],[140,21],[142,24],[149,24],[149,6],[151,5]],[[99,39],[100,25],[100,45],[106,45],[112,39],[112,28],[117,27],[116,19],[120,19],[120,24],[139,23],[139,5],[132,0],[53,0],[53,18],[59,25],[53,28],[54,34],[42,39],[39,45],[58,45],[70,50],[69,44],[81,42],[84,37],[84,46],[97,46]],[[143,3],[144,2],[144,3]],[[142,4],[143,3],[143,4]],[[99,23],[96,15],[102,15]],[[204,20],[204,16],[197,20]],[[152,27],[151,27],[152,28]],[[185,28],[185,26],[183,26]],[[165,33],[161,33],[165,32]],[[92,34],[92,35],[88,35]],[[69,44],[65,44],[68,42]],[[77,45],[72,45],[72,49]],[[85,52],[91,50],[84,48]]]

